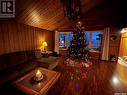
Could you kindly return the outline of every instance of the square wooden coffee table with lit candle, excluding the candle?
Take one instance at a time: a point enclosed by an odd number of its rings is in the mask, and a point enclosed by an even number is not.
[[[40,70],[44,78],[40,82],[33,80],[35,72]],[[14,81],[12,84],[19,90],[25,92],[28,95],[45,95],[48,90],[55,84],[60,77],[59,72],[51,71],[45,68],[37,68],[20,79]]]

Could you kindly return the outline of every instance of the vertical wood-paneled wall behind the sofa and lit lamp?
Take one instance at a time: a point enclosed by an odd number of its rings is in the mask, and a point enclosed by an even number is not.
[[[40,49],[42,42],[53,50],[54,32],[24,25],[15,21],[0,21],[0,54]]]

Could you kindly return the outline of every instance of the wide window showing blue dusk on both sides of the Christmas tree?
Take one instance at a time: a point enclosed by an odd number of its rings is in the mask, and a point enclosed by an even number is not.
[[[90,49],[96,49],[100,50],[101,46],[101,39],[100,35],[102,35],[103,32],[101,31],[86,31],[85,37],[87,39],[87,42],[89,43]],[[73,32],[59,32],[59,48],[61,49],[67,49],[68,46],[71,43],[73,37]]]

